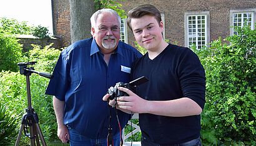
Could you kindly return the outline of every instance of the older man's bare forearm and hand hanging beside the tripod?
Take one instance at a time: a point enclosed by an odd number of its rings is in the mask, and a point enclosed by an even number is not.
[[[64,122],[63,122],[65,102],[57,99],[56,96],[53,96],[52,101],[53,101],[54,112],[56,114],[56,119],[57,119],[57,126],[58,126],[57,136],[63,143],[66,143],[67,140],[69,140],[69,130],[67,129],[66,125],[64,125]]]

